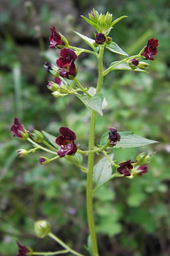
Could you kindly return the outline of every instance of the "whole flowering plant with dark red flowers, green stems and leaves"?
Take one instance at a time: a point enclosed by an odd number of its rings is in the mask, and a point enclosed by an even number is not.
[[[33,130],[31,133],[25,129],[20,123],[17,117],[14,118],[14,123],[11,126],[11,132],[14,137],[18,137],[21,140],[28,141],[32,144],[33,148],[30,150],[19,149],[18,156],[23,157],[30,152],[36,150],[43,150],[54,155],[53,158],[46,158],[40,156],[40,164],[47,164],[58,158],[65,158],[69,160],[76,167],[79,167],[81,171],[87,175],[87,218],[89,228],[90,241],[87,249],[92,256],[98,256],[97,239],[95,232],[94,222],[94,207],[93,197],[95,191],[101,187],[108,180],[115,177],[127,177],[133,179],[136,176],[142,176],[148,171],[148,163],[150,155],[146,152],[139,154],[133,161],[131,159],[122,159],[122,162],[117,163],[113,160],[113,154],[111,154],[117,148],[130,148],[140,147],[148,144],[156,143],[150,139],[139,137],[131,132],[119,132],[115,127],[108,127],[100,140],[100,144],[95,143],[95,123],[96,115],[103,116],[104,109],[104,96],[101,93],[101,87],[103,85],[104,77],[116,69],[124,69],[128,71],[146,72],[148,69],[148,63],[143,60],[154,60],[154,55],[158,52],[158,39],[149,39],[147,46],[143,47],[141,51],[134,56],[128,56],[128,53],[123,51],[112,38],[108,36],[113,26],[126,16],[121,16],[116,20],[112,20],[112,14],[107,12],[99,14],[95,9],[88,14],[88,18],[82,16],[82,18],[90,24],[95,30],[94,39],[88,38],[78,32],[75,32],[80,38],[91,48],[83,49],[74,46],[70,46],[67,39],[56,31],[56,28],[52,26],[50,28],[51,35],[49,37],[50,48],[57,48],[60,50],[60,56],[56,60],[56,65],[45,63],[46,71],[50,72],[54,76],[54,81],[50,81],[48,89],[52,91],[54,97],[63,97],[69,94],[74,94],[78,97],[84,105],[90,110],[90,130],[88,138],[88,149],[82,150],[80,146],[76,145],[76,134],[68,127],[60,127],[58,137],[54,137],[46,133],[45,131]],[[104,51],[111,51],[122,56],[124,59],[112,62],[109,67],[104,69],[103,67],[103,55]],[[84,88],[80,81],[76,79],[78,68],[76,67],[76,59],[83,52],[92,54],[96,57],[98,67],[98,80],[96,88]],[[141,61],[142,60],[142,61]],[[70,80],[73,80],[70,84]],[[94,93],[95,90],[95,93]],[[46,138],[46,139],[45,139]],[[103,154],[103,158],[95,165],[95,154]],[[83,155],[88,156],[87,168],[82,165]],[[100,166],[100,168],[98,168]],[[50,224],[45,220],[35,222],[35,233],[37,237],[44,238],[49,236],[55,240],[59,245],[63,247],[61,251],[55,252],[36,252],[27,246],[20,245],[17,242],[19,250],[17,256],[25,255],[56,255],[71,253],[73,255],[83,256],[83,254],[71,249],[65,242],[55,236],[50,230]],[[91,245],[91,246],[90,246]]]

